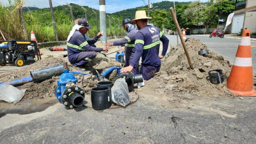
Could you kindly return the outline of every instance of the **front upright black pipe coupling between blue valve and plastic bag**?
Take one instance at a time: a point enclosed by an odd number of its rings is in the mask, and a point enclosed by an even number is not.
[[[103,110],[111,107],[111,93],[109,87],[91,89],[92,108]]]

